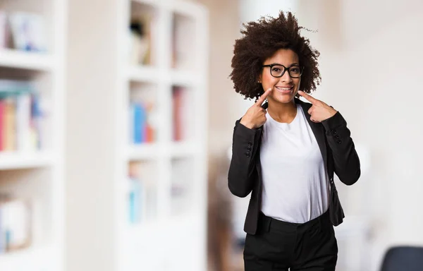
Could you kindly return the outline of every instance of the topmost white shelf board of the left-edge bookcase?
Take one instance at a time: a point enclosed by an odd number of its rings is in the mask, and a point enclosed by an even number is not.
[[[54,58],[49,54],[0,49],[0,66],[35,71],[52,71]]]

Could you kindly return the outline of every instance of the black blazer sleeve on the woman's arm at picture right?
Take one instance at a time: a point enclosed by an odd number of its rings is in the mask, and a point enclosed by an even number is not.
[[[326,138],[331,148],[336,176],[350,186],[360,178],[360,159],[355,151],[347,122],[336,112],[334,116],[321,122],[326,130]]]

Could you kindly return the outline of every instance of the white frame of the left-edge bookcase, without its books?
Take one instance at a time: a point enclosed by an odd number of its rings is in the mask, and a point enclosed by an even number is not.
[[[0,193],[32,203],[31,243],[0,253],[0,270],[63,270],[63,97],[66,0],[0,0],[0,11],[42,16],[47,52],[0,48],[0,80],[30,80],[47,109],[42,148],[0,152]]]

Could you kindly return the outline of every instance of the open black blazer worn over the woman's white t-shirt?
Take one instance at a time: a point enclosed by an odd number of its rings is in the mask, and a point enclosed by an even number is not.
[[[334,226],[343,222],[344,213],[338,198],[333,173],[346,185],[352,185],[360,177],[360,159],[355,151],[350,130],[343,116],[337,112],[334,116],[317,124],[310,121],[308,110],[312,104],[302,102],[295,98],[295,103],[300,104],[312,128],[314,136],[324,159],[326,171],[329,174],[330,195],[329,214]],[[266,108],[267,104],[263,107]],[[262,139],[263,126],[250,129],[240,124],[240,119],[235,122],[233,129],[232,159],[228,172],[228,187],[233,195],[244,198],[251,193],[245,218],[244,231],[255,234],[257,221],[262,204],[262,168],[260,164],[259,149]]]

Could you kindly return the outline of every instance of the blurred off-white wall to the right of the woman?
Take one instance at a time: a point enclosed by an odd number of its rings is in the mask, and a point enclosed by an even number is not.
[[[388,246],[423,245],[423,2],[297,3],[300,25],[318,30],[306,34],[321,52],[322,84],[314,96],[338,109],[355,143],[369,150],[371,170],[340,190],[347,217],[372,219],[368,270],[379,270]],[[243,5],[249,14],[284,8],[274,1]]]

